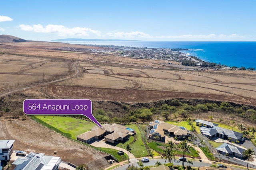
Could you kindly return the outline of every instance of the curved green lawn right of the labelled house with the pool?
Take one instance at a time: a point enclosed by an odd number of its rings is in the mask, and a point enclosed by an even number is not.
[[[141,138],[141,133],[137,127],[137,125],[135,124],[131,124],[131,125],[125,125],[126,127],[130,127],[132,129],[134,129],[136,131],[136,141],[134,143],[131,144],[131,148],[132,148],[132,154],[138,158],[138,157],[143,157],[143,156],[147,156],[148,152],[144,146],[144,143],[142,142],[142,138]],[[126,141],[125,143],[118,143],[116,146],[120,147],[120,148],[124,148],[125,149],[125,145],[126,143],[131,143],[133,141],[134,137],[130,137],[130,139],[128,141]]]

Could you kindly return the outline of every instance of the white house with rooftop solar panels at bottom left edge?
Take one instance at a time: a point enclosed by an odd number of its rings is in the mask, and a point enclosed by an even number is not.
[[[60,157],[30,152],[26,157],[17,158],[12,164],[14,170],[58,170]]]

